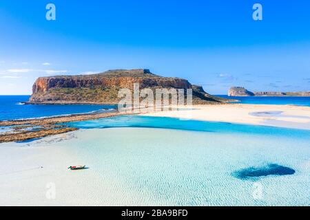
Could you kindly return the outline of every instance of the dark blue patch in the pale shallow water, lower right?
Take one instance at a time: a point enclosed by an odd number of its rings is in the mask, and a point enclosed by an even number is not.
[[[266,177],[269,175],[293,175],[295,170],[278,164],[268,164],[262,167],[249,167],[237,170],[232,175],[238,179],[257,179],[258,177]]]

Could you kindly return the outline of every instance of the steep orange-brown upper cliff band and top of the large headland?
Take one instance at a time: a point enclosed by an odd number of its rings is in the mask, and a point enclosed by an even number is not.
[[[189,89],[191,84],[180,78],[166,78],[151,74],[147,69],[116,70],[88,76],[53,76],[38,78],[32,93],[46,92],[52,88],[110,87],[132,89],[134,83],[145,87],[174,87]]]

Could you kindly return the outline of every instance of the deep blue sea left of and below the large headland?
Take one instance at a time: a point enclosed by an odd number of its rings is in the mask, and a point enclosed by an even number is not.
[[[0,96],[0,120],[40,118],[114,108],[113,105],[91,104],[21,104],[29,98],[30,96]]]

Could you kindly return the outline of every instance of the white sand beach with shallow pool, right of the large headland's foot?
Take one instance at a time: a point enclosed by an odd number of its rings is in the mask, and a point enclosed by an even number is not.
[[[144,115],[310,129],[310,107],[272,104],[210,104],[195,105],[192,108],[189,110],[185,107],[179,111],[160,111]]]

